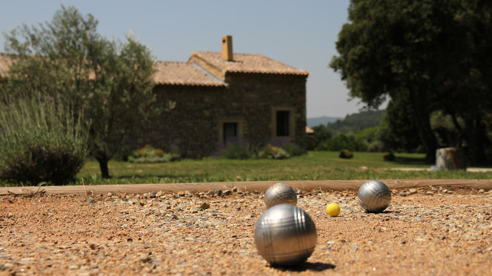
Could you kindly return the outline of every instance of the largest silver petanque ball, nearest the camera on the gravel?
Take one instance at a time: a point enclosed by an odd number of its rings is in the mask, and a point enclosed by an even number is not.
[[[279,204],[261,215],[255,227],[258,253],[273,266],[305,261],[316,247],[316,226],[304,210]]]

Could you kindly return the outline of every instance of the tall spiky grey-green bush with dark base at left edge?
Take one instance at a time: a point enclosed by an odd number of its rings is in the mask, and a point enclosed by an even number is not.
[[[0,178],[30,185],[73,181],[87,153],[83,118],[49,97],[0,103]]]

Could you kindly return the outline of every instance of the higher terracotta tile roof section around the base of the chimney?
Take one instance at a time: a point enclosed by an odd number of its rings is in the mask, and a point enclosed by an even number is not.
[[[236,54],[233,61],[222,59],[222,54],[218,52],[197,52],[193,51],[192,56],[199,57],[208,62],[211,66],[222,72],[229,73],[261,73],[261,74],[281,74],[281,75],[309,75],[308,71],[297,69],[285,65],[276,60],[262,55],[255,54]]]

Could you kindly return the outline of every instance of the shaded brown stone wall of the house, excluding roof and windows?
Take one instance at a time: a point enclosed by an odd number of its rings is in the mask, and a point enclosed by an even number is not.
[[[134,140],[136,147],[151,144],[183,157],[213,155],[220,145],[221,119],[242,120],[242,134],[251,143],[272,139],[272,108],[292,107],[294,142],[304,146],[306,125],[306,76],[274,74],[226,74],[227,87],[157,85],[160,105],[175,101],[173,110],[154,118],[149,131]],[[281,139],[287,139],[283,137]]]

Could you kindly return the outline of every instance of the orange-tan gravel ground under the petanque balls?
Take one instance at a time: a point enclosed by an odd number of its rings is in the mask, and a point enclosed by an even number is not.
[[[261,192],[3,196],[0,274],[490,275],[492,191],[394,190],[380,214],[361,212],[355,195],[299,194],[318,241],[288,269],[257,254]],[[332,202],[338,217],[324,211]]]

